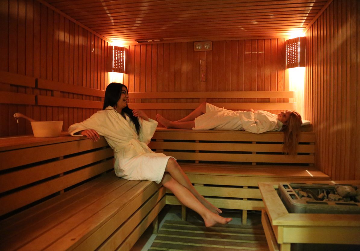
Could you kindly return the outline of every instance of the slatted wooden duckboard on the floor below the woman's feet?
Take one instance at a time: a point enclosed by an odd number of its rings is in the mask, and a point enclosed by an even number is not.
[[[165,221],[149,250],[269,250],[262,226]]]

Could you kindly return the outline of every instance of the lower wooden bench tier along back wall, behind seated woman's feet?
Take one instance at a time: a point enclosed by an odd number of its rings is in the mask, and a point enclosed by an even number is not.
[[[180,164],[195,189],[210,203],[222,209],[243,210],[243,224],[247,210],[262,210],[259,182],[270,181],[326,181],[330,177],[310,166],[253,166],[224,164]],[[181,205],[167,190],[166,204]],[[183,220],[186,218],[183,207]]]

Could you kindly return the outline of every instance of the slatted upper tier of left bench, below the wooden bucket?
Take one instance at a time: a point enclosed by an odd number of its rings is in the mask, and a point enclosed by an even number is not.
[[[102,137],[62,134],[0,139],[0,216],[63,193],[113,169],[113,150]],[[11,213],[10,213],[11,214]]]

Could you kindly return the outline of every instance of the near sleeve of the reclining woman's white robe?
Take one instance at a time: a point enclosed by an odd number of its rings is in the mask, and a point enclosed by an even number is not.
[[[252,133],[263,133],[273,131],[276,127],[276,120],[261,116],[261,120],[255,118],[253,112],[242,112],[239,114],[244,131]]]

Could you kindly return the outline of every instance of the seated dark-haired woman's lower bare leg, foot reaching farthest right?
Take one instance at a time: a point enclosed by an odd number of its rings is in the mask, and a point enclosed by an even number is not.
[[[228,224],[232,220],[232,218],[224,218],[211,212],[202,203],[200,203],[188,189],[173,179],[167,172],[164,174],[162,184],[166,188],[170,189],[176,198],[179,199],[186,207],[200,214],[200,216],[204,219],[206,227],[212,227],[215,224]]]

